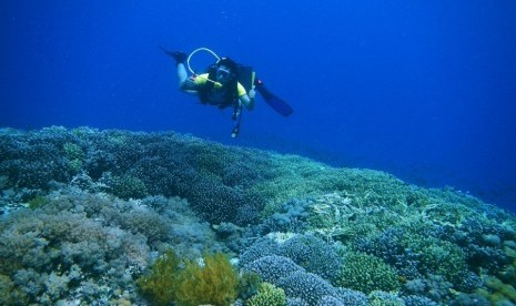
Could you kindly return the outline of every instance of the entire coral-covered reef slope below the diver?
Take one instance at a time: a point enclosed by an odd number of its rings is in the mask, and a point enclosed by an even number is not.
[[[2,305],[516,303],[509,212],[173,132],[3,129],[0,218]]]

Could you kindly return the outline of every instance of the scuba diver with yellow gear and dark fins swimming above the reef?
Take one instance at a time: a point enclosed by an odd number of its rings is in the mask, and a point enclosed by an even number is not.
[[[293,112],[286,102],[266,90],[261,80],[255,80],[255,72],[251,67],[237,64],[230,58],[220,58],[206,48],[199,48],[190,55],[180,51],[161,49],[175,60],[181,91],[196,94],[203,104],[215,105],[219,109],[233,106],[232,119],[236,121],[236,125],[233,128],[232,137],[239,135],[243,106],[249,111],[254,109],[255,89],[280,114],[289,116]],[[216,62],[201,74],[196,74],[190,67],[192,55],[199,51],[206,51],[216,59]],[[190,76],[186,68],[191,72]]]

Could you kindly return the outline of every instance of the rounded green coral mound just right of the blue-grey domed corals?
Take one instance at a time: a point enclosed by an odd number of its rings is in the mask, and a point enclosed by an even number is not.
[[[362,252],[347,252],[335,284],[340,287],[371,293],[397,292],[396,271],[381,258]]]

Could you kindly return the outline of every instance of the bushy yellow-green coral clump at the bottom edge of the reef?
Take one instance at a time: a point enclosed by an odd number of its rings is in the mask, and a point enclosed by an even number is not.
[[[138,284],[156,305],[230,305],[237,295],[239,274],[222,253],[205,255],[200,264],[168,251]]]

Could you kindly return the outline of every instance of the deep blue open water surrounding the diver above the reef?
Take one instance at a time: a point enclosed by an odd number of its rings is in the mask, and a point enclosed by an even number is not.
[[[0,126],[174,130],[516,211],[515,17],[513,0],[2,1]],[[294,115],[259,99],[232,140],[231,110],[180,93],[160,44],[252,64]]]

